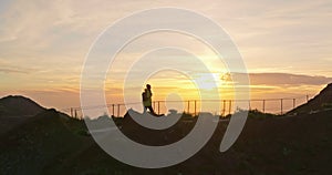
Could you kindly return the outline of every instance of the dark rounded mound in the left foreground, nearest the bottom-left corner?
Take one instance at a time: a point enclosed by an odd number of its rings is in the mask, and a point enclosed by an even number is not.
[[[84,123],[46,110],[0,136],[0,174],[37,175],[56,171],[93,140],[83,134]]]

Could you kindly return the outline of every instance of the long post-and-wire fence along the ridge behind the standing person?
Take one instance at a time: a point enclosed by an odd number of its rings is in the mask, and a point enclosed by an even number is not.
[[[210,112],[215,115],[227,116],[232,114],[236,102],[247,102],[249,103],[249,110],[258,110],[263,113],[272,113],[272,114],[286,114],[287,112],[307,103],[310,100],[309,95],[302,95],[297,97],[277,97],[277,99],[251,99],[251,100],[187,100],[187,101],[153,101],[153,107],[157,114],[167,113],[168,110],[172,110],[166,106],[167,104],[173,104],[173,106],[183,106],[179,112],[184,112],[191,115],[198,115],[199,112]],[[200,103],[220,103],[221,106],[216,107],[219,109],[214,110],[210,109],[208,111],[200,111]],[[83,119],[82,110],[95,110],[95,109],[104,109],[105,114],[108,112],[111,116],[121,117],[127,112],[127,106],[142,106],[142,102],[133,102],[133,103],[112,103],[106,105],[93,105],[93,106],[82,106],[82,107],[69,107],[63,109],[62,112],[69,114],[74,119]],[[211,105],[212,106],[212,105]]]

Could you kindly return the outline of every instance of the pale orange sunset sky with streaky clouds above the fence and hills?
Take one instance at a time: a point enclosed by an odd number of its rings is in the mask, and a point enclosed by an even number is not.
[[[221,25],[243,58],[252,97],[314,95],[332,82],[331,0],[1,0],[0,96],[25,95],[48,107],[79,106],[82,66],[97,35],[135,11],[159,7],[196,11]],[[160,32],[132,45],[139,45],[138,52],[151,49],[148,41],[195,50],[218,85],[227,85],[227,72],[201,43],[174,38],[181,37]],[[116,58],[105,86],[110,101],[121,101],[122,79],[115,74],[128,69],[136,53],[127,48]],[[201,78],[204,72],[195,79]],[[176,72],[156,74],[148,82],[156,100],[173,91],[195,97],[195,91],[188,93],[190,82]]]

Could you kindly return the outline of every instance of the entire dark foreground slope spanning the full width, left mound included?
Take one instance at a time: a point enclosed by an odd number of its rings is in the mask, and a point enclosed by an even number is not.
[[[186,162],[162,169],[142,169],[110,157],[82,123],[48,111],[13,130],[0,143],[2,174],[331,174],[332,112],[293,117],[249,119],[237,143],[218,147],[227,123],[219,123],[210,142]],[[45,117],[46,116],[46,117]],[[131,121],[129,121],[131,123]],[[125,124],[125,122],[124,122]],[[169,138],[133,127],[124,132],[143,143]],[[125,127],[125,126],[124,126]],[[178,124],[174,128],[185,135]],[[159,133],[172,136],[172,130]],[[133,155],[134,156],[134,155]]]

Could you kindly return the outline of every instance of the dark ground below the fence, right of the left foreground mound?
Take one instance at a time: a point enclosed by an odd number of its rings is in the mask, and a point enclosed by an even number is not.
[[[98,175],[331,174],[331,111],[325,111],[294,117],[249,119],[236,144],[226,153],[220,153],[218,148],[228,123],[220,122],[211,140],[200,152],[184,163],[160,169],[144,169],[125,165],[93,144],[58,173]],[[129,127],[125,130],[125,134],[136,142],[151,145],[159,145],[160,142],[169,144],[169,140],[174,140],[169,138],[173,135],[172,132],[183,135],[187,133],[188,127],[193,127],[190,123],[178,125],[184,128],[178,130],[175,126],[174,131],[166,130],[163,135],[154,135],[149,133],[151,131],[136,126],[131,119],[123,123],[123,127]],[[52,169],[44,173],[56,174],[52,173]]]

